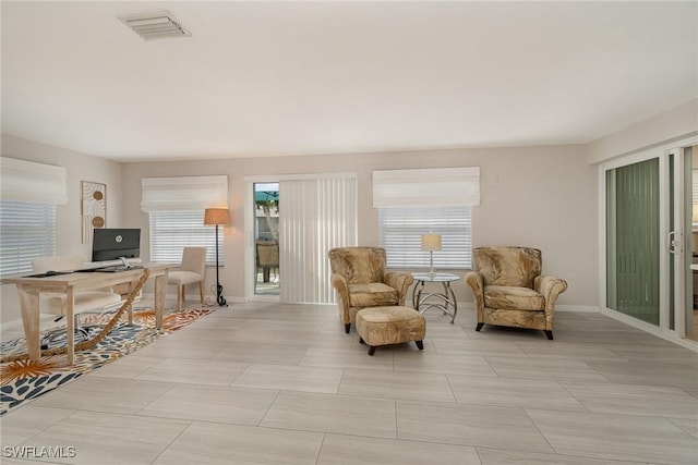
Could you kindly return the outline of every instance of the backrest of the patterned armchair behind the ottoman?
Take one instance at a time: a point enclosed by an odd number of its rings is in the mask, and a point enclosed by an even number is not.
[[[333,273],[345,277],[349,284],[382,282],[386,268],[385,248],[337,247],[329,250]]]

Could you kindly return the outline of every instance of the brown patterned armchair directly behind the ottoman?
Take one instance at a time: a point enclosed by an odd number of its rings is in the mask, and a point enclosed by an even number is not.
[[[357,313],[366,307],[405,305],[412,274],[386,271],[385,248],[339,247],[329,250],[332,285],[345,331],[349,333]]]

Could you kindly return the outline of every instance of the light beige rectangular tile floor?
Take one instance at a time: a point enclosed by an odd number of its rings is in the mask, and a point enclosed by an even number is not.
[[[334,306],[232,304],[0,418],[0,461],[698,463],[698,353],[600,314],[554,341],[449,319],[370,357]]]

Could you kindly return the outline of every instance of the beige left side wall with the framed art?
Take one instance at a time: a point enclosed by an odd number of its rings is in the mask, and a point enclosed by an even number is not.
[[[57,248],[59,254],[81,255],[88,261],[92,244],[82,244],[81,182],[93,181],[107,185],[107,227],[121,225],[123,221],[121,163],[4,134],[0,147],[0,154],[3,157],[65,167],[68,204],[56,208]],[[21,318],[14,286],[0,287],[2,292],[0,321]]]

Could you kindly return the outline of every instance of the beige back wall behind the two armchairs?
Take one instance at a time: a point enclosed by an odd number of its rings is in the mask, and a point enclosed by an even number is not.
[[[386,154],[227,159],[167,163],[129,163],[123,169],[124,220],[147,231],[141,179],[227,174],[232,230],[225,235],[226,296],[244,296],[244,178],[285,173],[356,172],[359,243],[378,242],[377,211],[372,207],[371,172],[376,169],[481,168],[481,205],[473,209],[473,244],[527,245],[543,250],[543,270],[564,277],[569,290],[561,305],[598,305],[597,170],[587,164],[583,146],[431,150]],[[281,201],[282,198],[281,198]],[[147,237],[147,233],[144,233]],[[147,254],[147,244],[143,248]],[[209,272],[206,289],[214,283]],[[472,301],[462,281],[459,301]]]

